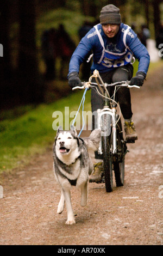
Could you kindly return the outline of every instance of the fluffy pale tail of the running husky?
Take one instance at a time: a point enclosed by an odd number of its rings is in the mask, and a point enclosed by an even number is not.
[[[99,148],[99,142],[101,139],[101,130],[93,130],[90,137],[84,138],[87,149],[96,151]]]

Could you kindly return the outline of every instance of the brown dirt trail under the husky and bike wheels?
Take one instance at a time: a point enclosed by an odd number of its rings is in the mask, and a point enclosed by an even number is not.
[[[0,245],[163,245],[162,80],[161,67],[131,90],[139,140],[128,145],[125,185],[106,193],[104,184],[90,184],[85,208],[73,188],[76,225],[65,225],[66,210],[57,214],[51,149],[1,175]]]

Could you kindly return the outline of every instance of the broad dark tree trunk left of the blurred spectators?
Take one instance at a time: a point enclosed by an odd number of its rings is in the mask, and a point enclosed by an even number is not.
[[[18,95],[22,103],[38,103],[43,100],[36,48],[37,0],[18,0],[19,47],[18,47]]]

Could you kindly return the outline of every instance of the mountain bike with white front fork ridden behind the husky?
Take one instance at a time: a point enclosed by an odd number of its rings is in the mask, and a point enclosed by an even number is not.
[[[95,78],[96,83],[92,82]],[[99,83],[100,82],[100,83]],[[121,109],[116,102],[116,92],[120,87],[140,88],[130,86],[129,81],[116,83],[104,83],[99,72],[95,70],[89,78],[89,82],[82,82],[82,87],[75,89],[96,89],[97,93],[103,96],[103,109],[97,109],[96,128],[101,129],[101,142],[98,153],[102,155],[104,167],[104,182],[106,192],[111,192],[113,188],[112,171],[115,173],[116,186],[124,185],[124,160],[128,149],[126,141],[123,138],[123,129],[121,123]],[[113,99],[110,97],[108,87],[114,87]],[[99,89],[99,90],[98,90]],[[119,114],[117,114],[117,106]],[[130,141],[134,143],[135,141]]]

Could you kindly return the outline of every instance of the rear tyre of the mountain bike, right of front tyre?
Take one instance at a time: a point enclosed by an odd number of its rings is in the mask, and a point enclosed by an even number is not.
[[[123,133],[122,133],[122,124],[121,119],[117,124],[117,154],[118,157],[113,163],[116,186],[120,187],[124,185],[124,161],[125,161],[125,151],[127,147],[124,144]]]

